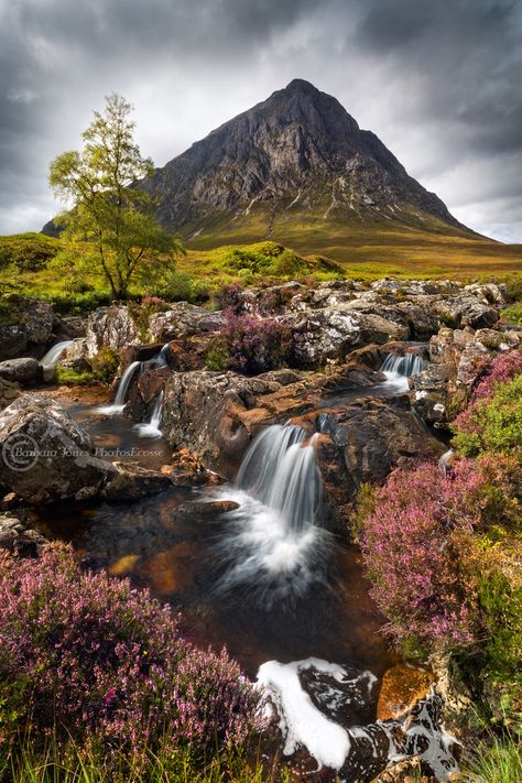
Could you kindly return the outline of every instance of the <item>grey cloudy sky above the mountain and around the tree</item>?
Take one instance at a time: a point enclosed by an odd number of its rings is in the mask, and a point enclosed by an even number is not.
[[[471,228],[522,242],[522,0],[0,0],[0,233],[117,91],[156,165],[294,77]]]

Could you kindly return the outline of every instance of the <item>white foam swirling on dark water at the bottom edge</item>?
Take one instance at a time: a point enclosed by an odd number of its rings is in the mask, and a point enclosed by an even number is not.
[[[302,672],[311,668],[323,675],[323,681],[325,677],[329,681],[329,684],[322,686],[320,706],[312,700],[300,677]],[[371,696],[376,682],[371,672],[350,676],[344,666],[316,657],[291,663],[268,661],[260,666],[257,677],[263,694],[262,713],[270,718],[272,710],[275,710],[285,755],[305,748],[316,760],[318,769],[328,766],[340,771],[345,768],[352,780],[354,773],[365,772],[365,758],[359,757],[360,740],[363,740],[365,752],[376,760],[381,759],[383,766],[418,755],[431,766],[437,780],[448,780],[457,770],[452,753],[452,746],[457,740],[441,726],[438,697],[433,689],[411,716],[406,714],[398,720],[376,720],[368,726],[345,727],[339,718],[328,716],[329,710],[340,705],[366,700]],[[402,742],[401,735],[404,738]],[[407,752],[404,752],[406,748]]]

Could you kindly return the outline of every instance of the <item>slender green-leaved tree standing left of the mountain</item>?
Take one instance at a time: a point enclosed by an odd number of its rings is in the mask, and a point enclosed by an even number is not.
[[[64,249],[55,263],[70,264],[77,276],[99,272],[113,298],[126,298],[131,282],[150,284],[172,273],[184,249],[155,219],[152,197],[137,187],[154,167],[133,139],[131,105],[116,94],[106,101],[105,115],[95,111],[83,133],[83,151],[64,152],[50,166],[51,187],[68,206],[57,218],[62,236],[87,240],[81,252]]]

